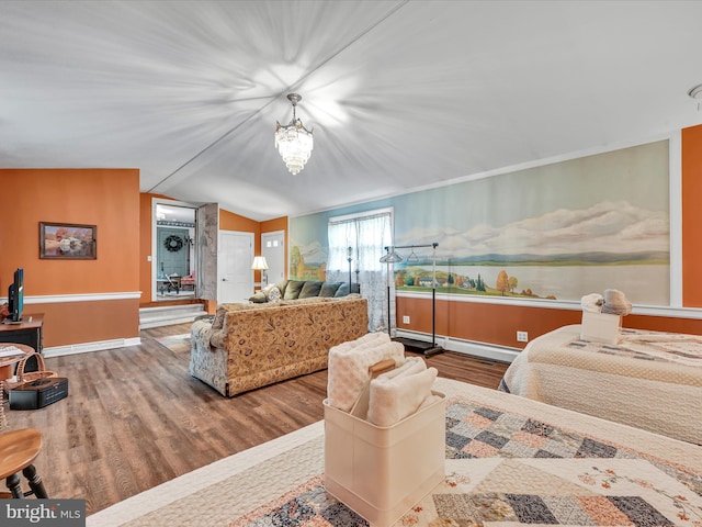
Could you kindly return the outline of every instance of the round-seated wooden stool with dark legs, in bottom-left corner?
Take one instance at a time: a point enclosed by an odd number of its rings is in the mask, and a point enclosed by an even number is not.
[[[42,478],[32,464],[41,450],[42,433],[35,428],[0,434],[0,479],[5,480],[12,497],[23,498],[32,494],[39,498],[48,497]],[[31,491],[22,491],[20,472],[26,478]]]

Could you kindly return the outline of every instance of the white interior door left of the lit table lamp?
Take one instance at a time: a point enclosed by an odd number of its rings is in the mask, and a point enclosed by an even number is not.
[[[244,303],[253,294],[253,233],[219,231],[219,303]]]

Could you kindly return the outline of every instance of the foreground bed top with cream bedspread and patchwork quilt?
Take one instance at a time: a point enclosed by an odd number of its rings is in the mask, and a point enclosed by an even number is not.
[[[457,381],[438,379],[434,389],[449,401],[446,476],[397,526],[702,526],[702,447]],[[87,525],[367,525],[325,491],[324,449],[319,422]]]

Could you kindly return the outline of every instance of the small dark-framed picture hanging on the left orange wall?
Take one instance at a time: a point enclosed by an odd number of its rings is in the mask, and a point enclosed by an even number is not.
[[[73,223],[39,222],[39,258],[97,259],[98,227]]]

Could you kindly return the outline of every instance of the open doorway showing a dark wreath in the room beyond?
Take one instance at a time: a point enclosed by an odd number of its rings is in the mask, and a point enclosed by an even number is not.
[[[152,201],[151,299],[195,299],[195,212],[197,208],[170,200]]]

